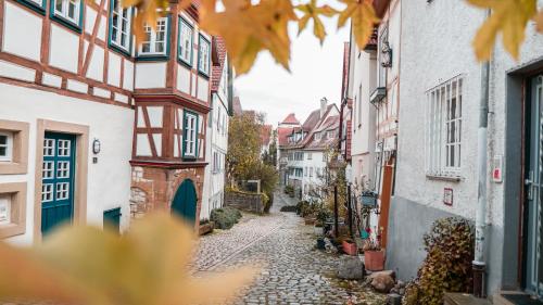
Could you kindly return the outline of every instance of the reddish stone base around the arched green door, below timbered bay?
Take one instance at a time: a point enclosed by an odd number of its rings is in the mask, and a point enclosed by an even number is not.
[[[177,188],[185,179],[191,179],[197,190],[195,228],[199,227],[204,181],[204,167],[168,169],[134,166],[131,175],[130,211],[132,218],[151,211],[169,213]]]

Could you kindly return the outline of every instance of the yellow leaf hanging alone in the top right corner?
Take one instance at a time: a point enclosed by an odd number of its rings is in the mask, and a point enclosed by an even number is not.
[[[467,0],[468,3],[492,14],[479,28],[473,39],[473,49],[479,61],[487,61],[492,54],[496,36],[502,33],[504,48],[518,60],[520,46],[525,40],[526,26],[536,13],[535,0]]]

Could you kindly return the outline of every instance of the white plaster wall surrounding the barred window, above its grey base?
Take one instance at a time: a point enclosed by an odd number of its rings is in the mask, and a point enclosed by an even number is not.
[[[477,206],[477,128],[479,64],[471,38],[482,13],[465,3],[403,2],[400,131],[395,195],[473,219]],[[463,26],[458,26],[463,24]],[[424,46],[424,48],[421,48]],[[430,180],[425,165],[426,92],[464,75],[462,181]],[[443,188],[454,191],[453,206],[443,202]]]

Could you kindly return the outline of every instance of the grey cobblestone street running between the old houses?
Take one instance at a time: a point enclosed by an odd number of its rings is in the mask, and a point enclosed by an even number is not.
[[[195,276],[238,265],[262,264],[255,283],[233,304],[384,304],[357,281],[334,278],[338,256],[313,250],[312,227],[279,208],[288,198],[276,193],[270,215],[244,215],[241,224],[201,239]]]

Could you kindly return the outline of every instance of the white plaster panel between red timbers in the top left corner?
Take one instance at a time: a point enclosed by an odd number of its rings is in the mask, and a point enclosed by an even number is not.
[[[3,18],[2,51],[39,61],[41,18],[8,1]]]

